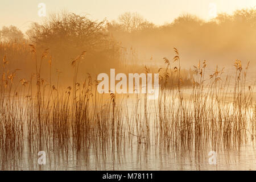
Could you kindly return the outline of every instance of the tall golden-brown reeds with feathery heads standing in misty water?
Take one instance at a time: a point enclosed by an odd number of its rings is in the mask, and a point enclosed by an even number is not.
[[[49,80],[41,76],[48,50],[39,59],[36,48],[30,47],[36,72],[30,80],[20,80],[16,76],[18,70],[6,71],[3,59],[2,169],[22,169],[24,164],[20,166],[18,162],[27,157],[29,168],[34,169],[39,151],[54,154],[48,155],[49,164],[89,164],[93,154],[94,163],[106,165],[104,161],[111,159],[114,169],[114,164],[124,162],[123,156],[135,146],[138,156],[147,155],[150,148],[182,151],[180,154],[184,155],[195,150],[200,155],[209,146],[220,151],[255,141],[254,85],[245,84],[249,64],[243,68],[237,60],[236,76],[224,78],[218,67],[212,75],[206,75],[207,62],[203,61],[194,67],[192,86],[184,89],[180,55],[174,48],[174,60],[164,57],[166,68],[158,70],[159,98],[148,101],[147,94],[99,94],[98,82],[90,74],[84,81],[77,81],[79,64],[86,59],[86,52],[71,61],[72,86],[56,86],[51,81],[51,61]],[[150,73],[150,69],[146,67],[145,72]]]

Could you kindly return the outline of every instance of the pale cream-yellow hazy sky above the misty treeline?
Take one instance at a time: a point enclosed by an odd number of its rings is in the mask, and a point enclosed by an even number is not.
[[[13,24],[25,31],[30,22],[40,22],[39,3],[46,4],[46,13],[68,10],[89,14],[92,19],[117,19],[126,11],[137,12],[155,24],[171,22],[184,13],[210,19],[211,3],[217,13],[232,13],[236,9],[255,7],[256,0],[1,0],[0,27]],[[212,9],[213,10],[213,9]]]

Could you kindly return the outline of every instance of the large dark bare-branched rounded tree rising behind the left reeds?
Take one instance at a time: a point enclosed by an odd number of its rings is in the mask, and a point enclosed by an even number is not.
[[[86,51],[86,68],[106,68],[118,60],[118,46],[107,34],[106,20],[98,22],[74,13],[52,14],[43,23],[33,23],[27,31],[37,52],[48,49],[52,67],[66,69],[70,60]],[[84,66],[85,66],[84,63]],[[82,66],[83,64],[80,64]],[[98,69],[100,70],[100,69]],[[68,77],[68,72],[63,73]]]

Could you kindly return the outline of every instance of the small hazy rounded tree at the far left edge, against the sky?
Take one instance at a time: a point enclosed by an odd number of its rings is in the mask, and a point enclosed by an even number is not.
[[[2,27],[0,35],[0,40],[3,42],[22,42],[24,40],[24,34],[15,26]]]

